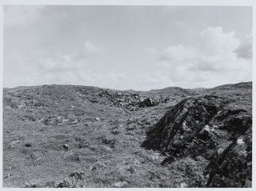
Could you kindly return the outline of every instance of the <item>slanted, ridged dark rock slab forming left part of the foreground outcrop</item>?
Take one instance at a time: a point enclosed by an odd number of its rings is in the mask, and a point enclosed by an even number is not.
[[[147,132],[143,145],[165,152],[185,148],[227,101],[214,96],[182,100]]]

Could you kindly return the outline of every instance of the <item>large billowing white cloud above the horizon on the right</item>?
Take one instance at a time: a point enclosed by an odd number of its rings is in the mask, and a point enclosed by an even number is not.
[[[179,44],[160,51],[157,73],[161,83],[196,88],[251,81],[251,62],[239,59],[234,53],[241,47],[235,32],[208,27],[195,38],[198,43],[194,46]]]

